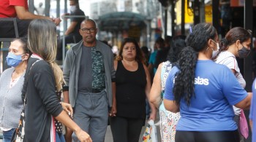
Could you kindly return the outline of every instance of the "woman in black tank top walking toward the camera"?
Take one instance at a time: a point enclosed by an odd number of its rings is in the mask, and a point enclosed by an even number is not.
[[[146,119],[146,96],[149,95],[151,82],[149,72],[143,64],[142,52],[135,39],[124,39],[114,67],[116,102],[113,104],[116,104],[117,112],[115,117],[110,119],[113,141],[138,142]],[[149,119],[154,120],[156,109],[152,104],[151,110]]]

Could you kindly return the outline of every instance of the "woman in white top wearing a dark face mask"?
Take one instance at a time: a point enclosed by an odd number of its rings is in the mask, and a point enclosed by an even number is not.
[[[246,86],[246,82],[240,73],[240,69],[238,68],[238,63],[236,57],[238,58],[246,58],[249,55],[251,44],[251,33],[247,31],[245,28],[236,27],[230,29],[227,32],[224,39],[221,40],[221,46],[219,55],[215,60],[216,63],[223,64],[230,68],[230,70],[235,74],[236,79],[241,84],[242,87]],[[240,115],[244,113],[242,109],[238,109],[236,106],[233,106],[236,121],[236,125],[238,125],[238,131],[240,132],[239,122]],[[241,115],[244,116],[244,115]],[[240,142],[244,141],[244,136],[240,135]]]

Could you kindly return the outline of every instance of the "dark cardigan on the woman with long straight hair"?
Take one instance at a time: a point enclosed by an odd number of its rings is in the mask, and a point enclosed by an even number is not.
[[[33,56],[33,55],[32,55]],[[23,95],[26,94],[25,142],[50,142],[53,117],[63,111],[56,95],[53,71],[45,60],[29,58]],[[30,73],[29,73],[30,72]],[[27,83],[26,83],[27,82]]]

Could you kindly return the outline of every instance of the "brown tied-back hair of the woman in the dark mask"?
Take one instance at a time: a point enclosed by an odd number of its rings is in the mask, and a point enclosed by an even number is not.
[[[246,42],[252,36],[251,32],[242,27],[231,28],[227,32],[225,38],[220,41],[220,50],[219,52],[225,51],[231,44],[234,44],[237,40],[240,40],[241,43]]]

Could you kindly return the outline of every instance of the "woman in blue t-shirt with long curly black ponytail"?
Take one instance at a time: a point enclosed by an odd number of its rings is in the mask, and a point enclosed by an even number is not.
[[[252,93],[247,94],[229,68],[211,60],[218,42],[211,24],[195,25],[167,78],[165,109],[181,112],[176,141],[239,141],[232,105],[249,108]]]

